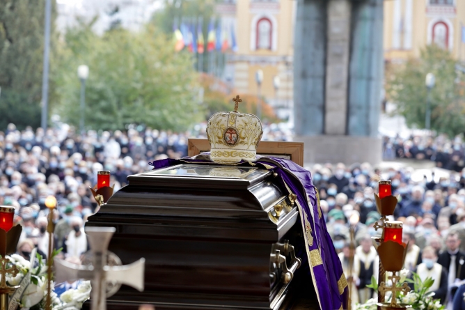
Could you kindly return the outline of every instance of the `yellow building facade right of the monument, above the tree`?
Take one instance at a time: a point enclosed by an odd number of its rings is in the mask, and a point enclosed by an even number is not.
[[[384,56],[386,61],[404,61],[420,56],[429,44],[450,50],[465,59],[465,1],[384,1]]]

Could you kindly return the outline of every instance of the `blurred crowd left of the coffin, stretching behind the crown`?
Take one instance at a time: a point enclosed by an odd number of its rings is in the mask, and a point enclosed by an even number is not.
[[[126,130],[78,134],[67,124],[43,130],[17,130],[14,124],[0,132],[0,205],[15,208],[15,220],[24,227],[18,254],[29,259],[37,247],[44,258],[48,251],[47,196],[58,201],[54,213],[54,247],[61,256],[76,261],[87,249],[84,222],[95,212],[89,187],[97,171],[111,172],[118,190],[130,174],[150,170],[148,162],[187,155],[187,137],[204,137],[206,123],[191,132],[155,130],[141,125]],[[264,139],[289,140],[281,125],[264,126]]]

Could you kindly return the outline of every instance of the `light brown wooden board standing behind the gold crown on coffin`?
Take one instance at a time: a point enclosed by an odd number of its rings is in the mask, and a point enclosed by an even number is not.
[[[210,144],[207,139],[189,139],[187,155],[195,156],[208,151]],[[257,154],[284,157],[299,166],[304,166],[304,142],[260,141]]]

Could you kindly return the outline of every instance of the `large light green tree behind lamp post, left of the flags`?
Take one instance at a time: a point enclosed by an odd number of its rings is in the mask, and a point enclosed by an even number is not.
[[[69,29],[56,55],[56,112],[79,123],[77,67],[86,64],[86,127],[122,129],[143,123],[185,130],[202,120],[192,59],[173,53],[171,38],[148,27],[137,33],[114,29],[102,37],[91,24]]]

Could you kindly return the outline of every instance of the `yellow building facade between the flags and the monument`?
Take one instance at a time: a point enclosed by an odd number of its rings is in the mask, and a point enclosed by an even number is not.
[[[283,118],[293,106],[295,7],[293,0],[237,0],[217,6],[223,22],[233,24],[237,33],[237,49],[226,57],[224,77],[239,93],[265,97]],[[260,87],[258,70],[263,72]]]

